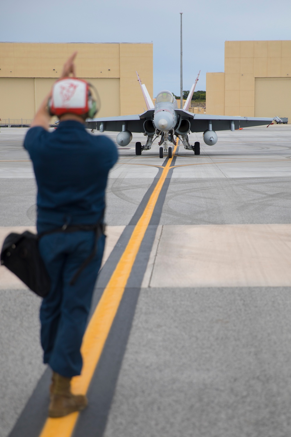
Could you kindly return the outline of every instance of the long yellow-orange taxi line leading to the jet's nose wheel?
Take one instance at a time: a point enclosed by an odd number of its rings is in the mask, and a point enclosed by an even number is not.
[[[178,141],[174,147],[172,158],[168,158],[166,165],[163,167],[161,177],[147,202],[144,212],[141,215],[129,242],[108,282],[103,295],[92,315],[89,325],[86,329],[81,353],[83,357],[82,375],[72,379],[72,392],[86,394],[92,376],[102,354],[104,344],[109,334],[111,325],[118,310],[127,280],[140,249],[141,242],[147,230],[147,226],[154,212],[154,207],[164,185],[171,167],[171,161],[175,156]],[[65,417],[57,419],[48,418],[39,437],[70,437],[75,428],[79,413],[72,413]]]

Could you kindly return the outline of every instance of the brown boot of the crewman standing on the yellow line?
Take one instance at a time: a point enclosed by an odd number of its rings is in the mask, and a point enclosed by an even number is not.
[[[53,372],[51,403],[48,408],[49,417],[62,417],[74,411],[86,408],[88,401],[84,395],[73,395],[71,392],[71,378]]]

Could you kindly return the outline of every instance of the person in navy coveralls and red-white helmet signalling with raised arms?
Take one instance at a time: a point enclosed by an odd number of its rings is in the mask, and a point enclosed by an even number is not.
[[[75,55],[65,63],[61,78],[75,77]],[[61,95],[55,96],[52,105],[59,97],[66,107],[59,115],[58,128],[48,132],[50,114],[45,99],[24,140],[38,185],[38,234],[45,233],[39,250],[51,279],[40,310],[44,363],[53,371],[51,417],[65,416],[87,405],[86,396],[71,393],[70,380],[81,373],[80,347],[104,250],[105,236],[101,233],[96,242],[96,228],[92,229],[103,221],[108,172],[117,160],[116,146],[109,138],[86,131],[88,112],[80,114],[82,108],[68,103],[78,97],[74,84],[62,86],[70,81],[73,79],[56,82]],[[82,87],[88,86],[80,82]],[[78,80],[75,83],[78,85]],[[86,105],[92,106],[94,100],[87,94]],[[64,232],[46,233],[60,227]],[[89,262],[84,266],[86,260]],[[76,272],[79,274],[72,284]]]

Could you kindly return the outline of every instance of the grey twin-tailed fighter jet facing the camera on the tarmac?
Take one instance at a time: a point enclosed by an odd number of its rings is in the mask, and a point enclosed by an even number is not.
[[[147,141],[143,146],[141,142],[136,142],[136,155],[141,155],[143,150],[151,149],[154,140],[161,137],[158,143],[160,146],[160,158],[163,158],[164,153],[167,153],[168,157],[171,158],[172,144],[176,144],[174,135],[179,136],[185,149],[193,150],[195,155],[200,155],[200,143],[197,141],[194,146],[189,144],[188,134],[191,132],[204,132],[204,142],[212,146],[217,142],[215,131],[227,129],[234,131],[238,128],[269,125],[273,121],[273,118],[192,114],[188,112],[198,77],[192,85],[183,109],[178,108],[175,97],[168,90],[163,90],[157,94],[155,104],[153,104],[147,88],[141,83],[138,74],[137,77],[147,105],[147,111],[136,115],[92,118],[88,120],[91,129],[99,129],[100,132],[105,132],[106,130],[120,132],[116,137],[116,142],[119,146],[127,146],[130,143],[132,132],[143,132],[144,136],[147,137]]]

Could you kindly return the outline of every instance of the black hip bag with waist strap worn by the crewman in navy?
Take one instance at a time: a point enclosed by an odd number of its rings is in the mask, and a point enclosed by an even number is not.
[[[97,223],[95,225],[64,225],[62,228],[42,232],[38,235],[29,231],[25,231],[22,234],[10,233],[4,240],[0,262],[19,277],[34,293],[44,298],[50,291],[51,280],[45,263],[41,258],[38,242],[41,237],[48,234],[76,231],[94,231],[95,241],[89,257],[81,264],[70,281],[70,285],[74,285],[79,274],[96,255],[97,241],[105,231],[104,223]]]

